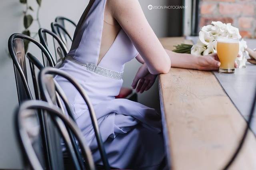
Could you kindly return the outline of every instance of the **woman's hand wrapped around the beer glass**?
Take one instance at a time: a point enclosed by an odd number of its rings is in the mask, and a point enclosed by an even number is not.
[[[240,57],[240,56],[238,56]],[[212,53],[209,55],[204,55],[198,57],[198,70],[218,70],[220,67],[220,60],[217,53]],[[235,68],[238,67],[238,64],[234,63]]]

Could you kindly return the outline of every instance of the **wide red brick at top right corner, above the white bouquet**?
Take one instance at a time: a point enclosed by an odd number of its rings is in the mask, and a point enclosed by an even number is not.
[[[240,3],[220,3],[219,11],[222,15],[253,15],[254,5],[240,4]]]

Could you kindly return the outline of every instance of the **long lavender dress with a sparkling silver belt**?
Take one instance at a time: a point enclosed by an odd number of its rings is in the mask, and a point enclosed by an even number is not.
[[[60,69],[74,76],[90,97],[110,166],[158,169],[165,157],[160,115],[140,103],[115,99],[122,87],[125,63],[138,54],[124,30],[120,30],[97,65],[105,4],[106,0],[95,0],[86,18],[80,20],[69,59],[63,61]],[[94,161],[102,164],[87,106],[70,83],[58,76],[55,79],[72,104],[76,122],[90,144]]]

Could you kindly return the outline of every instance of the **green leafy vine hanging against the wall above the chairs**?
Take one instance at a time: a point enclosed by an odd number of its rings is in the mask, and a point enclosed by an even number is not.
[[[41,28],[41,24],[40,24],[40,20],[39,20],[39,10],[42,4],[42,0],[36,0],[37,4],[38,4],[38,8],[36,11],[36,18],[33,18],[33,16],[31,14],[29,14],[30,12],[34,12],[34,9],[32,8],[32,6],[30,6],[28,4],[27,0],[20,0],[21,4],[26,5],[26,10],[23,11],[23,25],[24,25],[24,31],[22,31],[22,34],[25,34],[27,36],[32,36],[33,38],[35,38],[38,34],[38,32],[31,32],[30,31],[30,26],[32,25],[32,23],[35,21],[38,23],[38,28]],[[29,41],[24,40],[24,48],[25,48],[25,53],[28,50],[28,44]]]

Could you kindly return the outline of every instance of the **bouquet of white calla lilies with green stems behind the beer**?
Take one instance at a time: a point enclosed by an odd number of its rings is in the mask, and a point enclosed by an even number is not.
[[[211,25],[202,27],[199,32],[199,39],[196,44],[180,44],[174,49],[174,52],[178,53],[191,53],[192,55],[208,55],[211,53],[216,53],[217,38],[226,37],[226,38],[236,38],[239,39],[239,55],[236,59],[239,67],[245,67],[247,59],[246,55],[243,55],[247,48],[246,42],[242,39],[238,28],[232,26],[230,23],[224,24],[220,21],[212,22]]]

